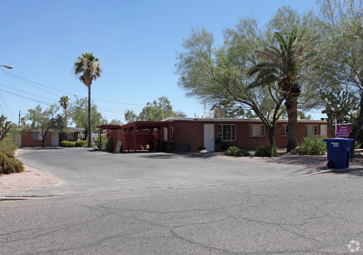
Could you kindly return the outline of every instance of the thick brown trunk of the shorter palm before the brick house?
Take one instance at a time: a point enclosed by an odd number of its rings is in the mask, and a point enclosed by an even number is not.
[[[290,96],[286,96],[285,107],[287,112],[288,119],[288,127],[289,127],[289,137],[287,139],[286,151],[290,152],[291,150],[297,147],[297,100],[296,98],[291,98]]]

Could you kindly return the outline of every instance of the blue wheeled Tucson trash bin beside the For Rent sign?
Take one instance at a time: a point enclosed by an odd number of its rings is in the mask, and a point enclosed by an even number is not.
[[[323,139],[326,142],[328,151],[329,168],[348,168],[349,167],[349,153],[350,147],[354,139],[348,138],[328,138]]]

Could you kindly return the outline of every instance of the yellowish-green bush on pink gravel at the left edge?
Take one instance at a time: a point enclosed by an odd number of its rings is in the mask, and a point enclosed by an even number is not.
[[[20,173],[23,171],[23,163],[15,158],[14,151],[8,148],[0,148],[0,174]]]

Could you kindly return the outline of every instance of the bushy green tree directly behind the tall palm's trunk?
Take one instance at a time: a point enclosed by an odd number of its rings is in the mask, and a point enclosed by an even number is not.
[[[84,128],[85,130],[79,133],[81,140],[87,140],[90,133],[98,133],[98,128],[96,126],[106,123],[106,120],[102,118],[102,114],[97,111],[97,105],[91,103],[91,132],[89,131],[89,119],[88,119],[88,100],[87,98],[77,98],[74,104],[69,106],[69,116],[72,119],[70,124],[76,124],[76,127]]]

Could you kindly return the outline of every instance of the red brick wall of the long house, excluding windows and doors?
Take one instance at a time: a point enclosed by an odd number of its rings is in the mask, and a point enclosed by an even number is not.
[[[204,124],[214,124],[214,137],[218,138],[218,125],[232,124],[236,125],[236,141],[222,141],[222,143],[228,143],[229,145],[235,145],[242,149],[256,149],[259,146],[269,144],[269,137],[267,129],[265,127],[265,136],[250,137],[249,125],[262,125],[260,121],[245,121],[245,122],[216,122],[216,121],[191,121],[191,120],[174,120],[170,122],[169,127],[174,128],[174,142],[171,144],[170,150],[172,151],[184,151],[183,143],[190,145],[190,151],[196,152],[199,146],[204,145]],[[277,122],[276,130],[274,133],[274,140],[277,147],[285,148],[287,145],[287,136],[282,136],[282,125],[287,125],[286,122]],[[298,144],[305,137],[305,125],[317,125],[318,135],[320,135],[320,126],[326,125],[326,123],[317,122],[299,122],[298,123]],[[169,131],[168,131],[169,132]],[[161,132],[160,137],[164,137]],[[169,135],[169,134],[168,134]],[[327,135],[331,138],[331,134],[328,131]],[[169,140],[169,137],[168,137]],[[217,151],[221,145],[215,143],[214,147]]]

